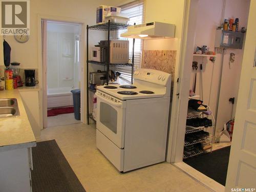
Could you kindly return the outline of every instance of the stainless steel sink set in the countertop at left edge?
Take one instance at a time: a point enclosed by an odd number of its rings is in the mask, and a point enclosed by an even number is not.
[[[0,99],[0,118],[19,116],[17,99]]]

